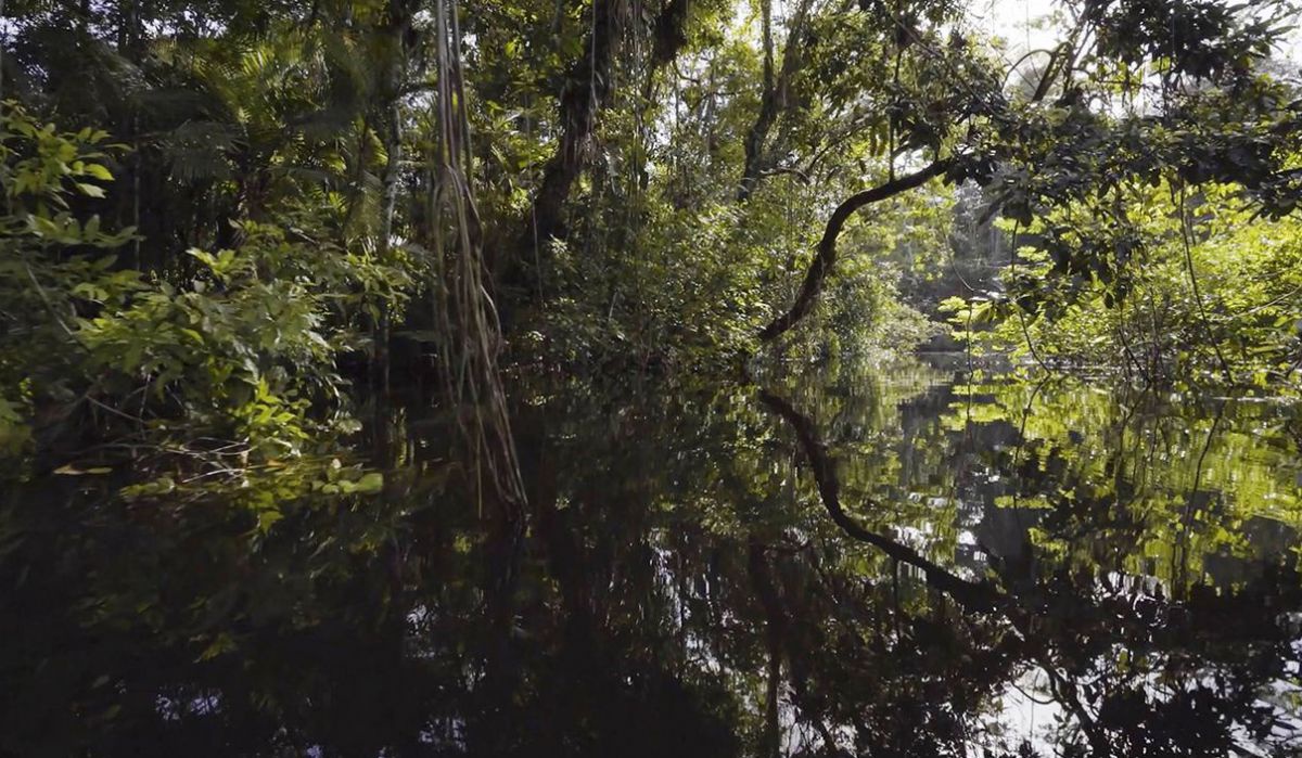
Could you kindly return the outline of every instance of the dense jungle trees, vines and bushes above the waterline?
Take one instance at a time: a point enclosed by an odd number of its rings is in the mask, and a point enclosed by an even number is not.
[[[1013,64],[962,4],[859,5],[9,3],[10,474],[297,469],[441,371],[510,478],[504,367],[906,348],[901,285],[990,240],[960,337],[1294,383],[1290,5],[1064,5]]]

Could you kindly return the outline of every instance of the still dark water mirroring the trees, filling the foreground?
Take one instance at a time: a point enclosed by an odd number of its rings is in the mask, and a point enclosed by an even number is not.
[[[35,482],[0,754],[1302,754],[1298,412],[961,369],[521,392],[522,534],[417,393],[264,530]]]

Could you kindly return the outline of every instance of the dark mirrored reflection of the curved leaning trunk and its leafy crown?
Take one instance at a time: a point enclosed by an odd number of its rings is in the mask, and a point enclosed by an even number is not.
[[[1160,585],[1144,593],[1139,582],[1116,582],[1107,573],[1101,587],[1092,573],[1061,569],[1046,581],[1004,577],[1013,593],[962,580],[848,517],[836,464],[815,422],[768,391],[760,399],[796,432],[831,520],[850,538],[919,568],[928,586],[966,610],[996,610],[1016,632],[1016,655],[1047,675],[1049,693],[1073,716],[1090,753],[1216,755],[1242,750],[1245,736],[1279,751],[1288,749],[1279,731],[1302,727],[1295,706],[1271,707],[1262,699],[1289,686],[1290,667],[1302,656],[1292,647],[1297,630],[1290,636],[1288,615],[1267,600],[1284,600],[1284,608],[1302,602],[1295,572],[1268,570],[1264,586],[1230,595],[1194,587],[1194,597],[1180,604],[1168,602]],[[1200,625],[1236,615],[1242,616],[1215,630],[1186,626],[1193,619]],[[1294,672],[1293,686],[1297,679]],[[1072,733],[1064,732],[1069,750]]]

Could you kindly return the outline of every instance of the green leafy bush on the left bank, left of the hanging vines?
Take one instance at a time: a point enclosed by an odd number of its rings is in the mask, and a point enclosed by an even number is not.
[[[85,215],[120,148],[13,103],[0,124],[0,452],[85,470],[81,451],[111,465],[125,451],[247,483],[358,428],[336,361],[381,307],[401,309],[408,267],[250,221],[236,249],[190,250],[189,272],[121,267],[112,250],[139,242],[133,229]]]

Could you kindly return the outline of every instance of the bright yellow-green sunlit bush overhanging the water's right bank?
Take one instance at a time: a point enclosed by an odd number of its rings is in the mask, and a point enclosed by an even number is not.
[[[961,336],[1023,357],[1034,346],[1040,359],[1112,367],[1144,384],[1297,388],[1302,221],[1255,219],[1233,185],[1208,186],[1184,206],[1165,185],[1130,195],[1133,227],[1108,232],[1112,274],[1064,264],[1056,242],[1094,231],[1074,224],[1072,208],[1059,211],[1021,238],[1005,292],[948,303]]]

